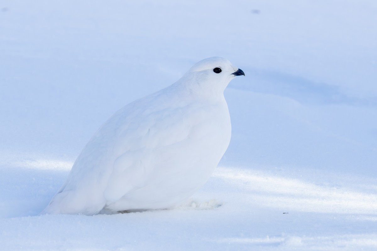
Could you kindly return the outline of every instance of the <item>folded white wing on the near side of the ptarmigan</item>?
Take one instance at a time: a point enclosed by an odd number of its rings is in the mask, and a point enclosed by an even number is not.
[[[156,166],[163,162],[165,148],[187,139],[192,125],[184,119],[187,107],[166,108],[121,124],[113,145],[113,166],[104,191],[107,201],[116,201],[128,191],[144,186]],[[163,172],[163,170],[161,170]]]

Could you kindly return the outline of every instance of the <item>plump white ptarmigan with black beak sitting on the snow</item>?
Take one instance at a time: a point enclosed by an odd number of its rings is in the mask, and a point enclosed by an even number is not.
[[[240,75],[227,59],[210,57],[124,106],[86,144],[42,213],[166,209],[190,198],[228,148],[224,89]]]

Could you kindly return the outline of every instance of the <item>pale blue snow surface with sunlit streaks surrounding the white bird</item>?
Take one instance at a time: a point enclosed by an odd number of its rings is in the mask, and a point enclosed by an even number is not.
[[[373,0],[2,1],[0,249],[376,250],[376,12]],[[37,216],[110,115],[210,56],[246,77],[225,90],[232,139],[192,202]]]

